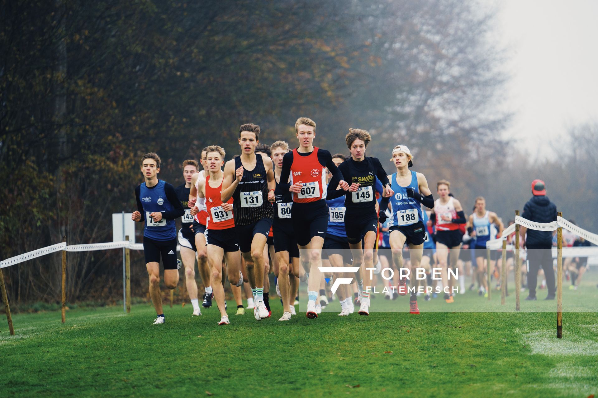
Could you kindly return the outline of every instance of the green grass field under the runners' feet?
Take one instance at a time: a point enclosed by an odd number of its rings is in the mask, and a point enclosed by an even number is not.
[[[596,303],[595,285],[565,291],[565,302],[581,293]],[[468,293],[456,304],[482,300]],[[496,295],[493,302],[498,300]],[[234,301],[228,303],[234,308]],[[228,326],[216,325],[215,307],[192,318],[190,305],[166,305],[164,325],[151,324],[149,304],[133,306],[128,315],[122,307],[71,310],[65,325],[59,312],[17,314],[14,337],[2,316],[0,390],[23,397],[544,398],[598,392],[595,312],[565,313],[558,340],[554,312],[346,318],[326,312],[317,320],[300,314],[282,323],[279,301],[273,297],[271,303],[271,319],[258,322],[248,311],[231,315]],[[377,298],[372,307],[391,303],[407,307],[407,297]],[[442,303],[426,304],[432,309]]]

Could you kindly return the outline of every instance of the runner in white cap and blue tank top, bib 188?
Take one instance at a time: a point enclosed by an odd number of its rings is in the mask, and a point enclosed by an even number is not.
[[[393,191],[389,224],[392,260],[400,273],[403,266],[402,249],[407,243],[411,265],[409,312],[419,314],[417,306],[419,280],[416,279],[416,270],[422,263],[423,244],[427,237],[422,204],[434,208],[434,198],[428,188],[425,175],[409,170],[413,166],[413,155],[407,146],[395,146],[390,161],[396,168],[396,172],[388,176]],[[382,206],[385,205],[384,203]],[[399,295],[407,294],[407,283],[404,278],[399,279],[397,292]]]

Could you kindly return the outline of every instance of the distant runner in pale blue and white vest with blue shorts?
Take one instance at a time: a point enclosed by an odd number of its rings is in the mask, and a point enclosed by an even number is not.
[[[487,277],[484,276],[486,272],[490,272],[490,264],[484,265],[487,261],[486,242],[490,239],[495,239],[491,234],[490,224],[498,226],[498,235],[502,236],[504,225],[499,220],[495,212],[486,210],[486,199],[482,196],[475,198],[475,212],[469,216],[467,221],[467,232],[469,236],[475,237],[475,264],[476,264],[476,279],[480,283],[480,295],[487,297],[487,292],[490,286],[487,283]]]

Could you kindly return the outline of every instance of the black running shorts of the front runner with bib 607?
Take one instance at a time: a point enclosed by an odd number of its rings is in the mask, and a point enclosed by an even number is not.
[[[293,203],[291,221],[295,239],[300,246],[307,246],[312,237],[326,237],[328,229],[328,207],[324,199],[318,202]]]

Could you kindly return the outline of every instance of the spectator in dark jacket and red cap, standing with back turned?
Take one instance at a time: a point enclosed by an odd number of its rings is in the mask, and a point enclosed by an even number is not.
[[[551,223],[557,220],[557,206],[546,196],[544,181],[533,180],[532,199],[528,200],[523,207],[521,217],[536,223]],[[527,233],[527,234],[526,234]],[[553,269],[553,233],[551,231],[536,231],[520,227],[523,245],[527,248],[527,287],[529,296],[526,300],[536,300],[536,283],[538,282],[538,270],[544,270],[548,295],[545,300],[554,300],[556,288],[554,287]],[[527,236],[526,236],[527,235]]]

